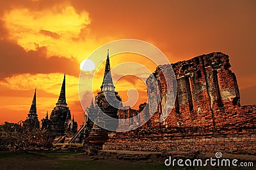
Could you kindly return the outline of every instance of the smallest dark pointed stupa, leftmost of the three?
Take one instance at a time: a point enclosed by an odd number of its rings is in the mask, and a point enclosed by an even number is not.
[[[35,89],[35,94],[33,97],[33,101],[28,113],[27,119],[24,121],[24,125],[28,125],[29,127],[36,127],[39,128],[40,123],[38,121],[38,116],[36,113],[36,89]]]

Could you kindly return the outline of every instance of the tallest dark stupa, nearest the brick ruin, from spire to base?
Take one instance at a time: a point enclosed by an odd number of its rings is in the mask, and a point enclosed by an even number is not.
[[[84,122],[86,122],[86,125],[88,126],[87,131],[89,131],[89,133],[87,133],[88,136],[85,136],[85,143],[100,148],[103,143],[108,141],[108,132],[116,131],[116,128],[118,127],[118,108],[122,106],[122,99],[118,95],[118,92],[115,92],[115,86],[113,85],[110,71],[109,50],[106,59],[104,78],[100,87],[100,92],[98,92],[95,97],[95,102],[95,106],[93,106],[92,101],[90,108],[86,109],[85,118],[87,120]],[[93,119],[93,122],[96,122],[93,126],[92,120],[88,118],[88,115]],[[103,129],[101,127],[103,127]],[[104,129],[105,127],[108,127],[109,131]]]

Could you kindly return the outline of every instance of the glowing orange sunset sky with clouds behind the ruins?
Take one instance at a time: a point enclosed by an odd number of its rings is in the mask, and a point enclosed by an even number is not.
[[[255,104],[255,7],[253,0],[0,1],[0,122],[25,120],[35,88],[39,119],[51,113],[66,73],[67,103],[81,124],[79,64],[104,43],[123,38],[152,43],[170,62],[227,53],[241,103]],[[123,61],[114,58],[111,67]],[[154,64],[147,66],[154,70]],[[101,83],[100,73],[95,81]],[[116,84],[124,101],[124,87],[145,88],[131,79]]]

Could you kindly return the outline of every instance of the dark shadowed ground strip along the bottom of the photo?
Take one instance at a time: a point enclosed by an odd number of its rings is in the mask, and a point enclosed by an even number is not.
[[[26,153],[0,152],[0,169],[205,169],[205,167],[164,166],[167,155],[186,159],[195,158],[191,153],[150,153],[150,152],[100,152],[90,156],[84,153]],[[225,155],[230,159],[255,162],[253,155]],[[202,157],[202,155],[196,155]],[[214,157],[214,154],[204,155]],[[255,167],[255,166],[254,166]],[[216,169],[207,167],[207,169]],[[218,167],[218,169],[241,169],[240,167]],[[243,168],[245,169],[245,168]],[[253,169],[253,167],[246,168]]]

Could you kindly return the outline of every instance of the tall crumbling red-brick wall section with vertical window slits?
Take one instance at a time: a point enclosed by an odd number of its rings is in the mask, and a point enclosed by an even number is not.
[[[167,93],[166,83],[172,83],[168,67],[168,64],[161,66],[161,69],[157,67],[154,73],[161,93],[160,111],[168,104],[163,103]],[[229,69],[228,55],[210,53],[177,62],[172,67],[177,79],[177,96],[175,109],[172,110],[172,106],[166,108],[168,113],[171,111],[165,121],[167,126],[206,126],[215,129],[218,111],[225,113],[228,108],[240,105],[236,76]],[[152,86],[150,78],[147,82],[148,87]]]

